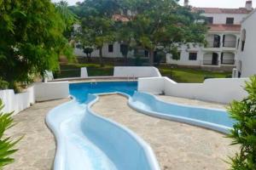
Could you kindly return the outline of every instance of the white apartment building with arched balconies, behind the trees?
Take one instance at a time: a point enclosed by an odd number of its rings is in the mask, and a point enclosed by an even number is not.
[[[185,5],[188,1],[185,0]],[[207,46],[183,45],[179,50],[180,59],[166,55],[166,63],[172,65],[201,66],[232,70],[236,66],[238,46],[241,42],[241,20],[253,10],[252,1],[244,8],[193,8],[207,17],[209,31],[206,35]]]

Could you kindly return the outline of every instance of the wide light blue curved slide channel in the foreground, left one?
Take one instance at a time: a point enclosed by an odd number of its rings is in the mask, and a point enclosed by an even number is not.
[[[90,106],[72,101],[49,112],[46,122],[55,134],[55,170],[160,170],[154,152],[137,134],[96,115]]]

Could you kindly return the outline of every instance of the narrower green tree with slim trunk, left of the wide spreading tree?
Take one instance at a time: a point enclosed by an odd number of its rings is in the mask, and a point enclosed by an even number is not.
[[[98,49],[100,64],[103,66],[103,45],[113,43],[116,38],[113,14],[119,10],[118,4],[114,0],[86,0],[78,6],[74,11],[81,19],[79,42],[84,47]]]

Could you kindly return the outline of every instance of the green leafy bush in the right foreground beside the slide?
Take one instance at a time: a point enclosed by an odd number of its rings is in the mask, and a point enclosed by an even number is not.
[[[239,144],[240,151],[230,158],[233,170],[256,169],[256,77],[246,83],[248,97],[230,105],[230,116],[236,120],[229,138]]]

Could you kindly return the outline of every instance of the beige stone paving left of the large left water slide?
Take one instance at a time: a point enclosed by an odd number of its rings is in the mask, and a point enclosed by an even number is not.
[[[18,124],[8,131],[15,137],[25,135],[17,144],[15,163],[5,167],[5,170],[49,170],[55,156],[55,139],[44,123],[46,114],[56,105],[68,99],[59,99],[37,103],[15,116]]]

